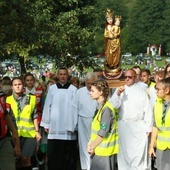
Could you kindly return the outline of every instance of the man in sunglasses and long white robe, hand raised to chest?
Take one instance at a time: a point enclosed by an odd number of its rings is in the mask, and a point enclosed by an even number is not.
[[[148,136],[153,113],[147,93],[135,81],[136,72],[127,70],[125,86],[118,87],[110,100],[118,108],[118,168],[121,170],[148,167]]]

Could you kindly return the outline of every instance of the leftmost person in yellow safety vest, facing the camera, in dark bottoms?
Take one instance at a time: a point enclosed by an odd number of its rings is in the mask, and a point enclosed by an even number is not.
[[[13,94],[6,99],[6,108],[10,112],[20,138],[21,157],[17,160],[17,169],[31,170],[30,158],[36,148],[36,140],[41,139],[36,114],[36,97],[23,93],[23,81],[16,77],[12,80]]]

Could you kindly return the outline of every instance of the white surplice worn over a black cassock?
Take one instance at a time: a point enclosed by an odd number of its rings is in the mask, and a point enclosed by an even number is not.
[[[76,139],[76,134],[67,131],[69,106],[76,90],[77,88],[73,85],[70,85],[68,89],[58,89],[56,84],[49,87],[40,124],[49,129],[48,139]]]

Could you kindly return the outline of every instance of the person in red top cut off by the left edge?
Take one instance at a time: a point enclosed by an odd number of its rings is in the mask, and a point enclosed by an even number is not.
[[[0,91],[0,169],[15,170],[15,159],[20,157],[19,137],[9,113],[6,110],[5,95]],[[8,132],[8,129],[12,133]],[[12,144],[14,148],[12,147]],[[15,151],[15,155],[14,155]]]

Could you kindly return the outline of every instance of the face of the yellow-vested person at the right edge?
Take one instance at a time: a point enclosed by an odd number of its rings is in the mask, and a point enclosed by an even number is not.
[[[156,95],[161,98],[165,99],[167,95],[167,88],[162,84],[162,83],[157,83],[156,84]],[[169,93],[169,92],[168,92]]]

